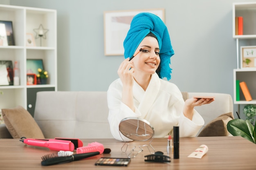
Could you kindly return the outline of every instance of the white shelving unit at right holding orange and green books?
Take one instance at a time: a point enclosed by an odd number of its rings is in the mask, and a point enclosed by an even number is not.
[[[235,17],[243,16],[243,35],[236,35]],[[241,68],[239,66],[239,40],[256,39],[256,2],[233,4],[233,38],[236,39],[237,69],[234,69],[234,104],[256,104],[256,68]],[[254,44],[255,45],[255,44]],[[236,80],[246,82],[252,95],[252,101],[246,101],[240,90],[240,101],[236,101]]]

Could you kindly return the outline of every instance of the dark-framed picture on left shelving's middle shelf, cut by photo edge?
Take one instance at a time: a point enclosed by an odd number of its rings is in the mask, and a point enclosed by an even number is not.
[[[13,66],[11,60],[0,60],[0,85],[13,85]]]

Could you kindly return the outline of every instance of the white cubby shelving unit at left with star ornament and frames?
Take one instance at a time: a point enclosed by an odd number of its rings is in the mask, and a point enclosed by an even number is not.
[[[0,20],[12,21],[14,46],[0,46],[0,60],[18,61],[20,68],[19,86],[0,86],[0,109],[18,105],[34,115],[36,91],[57,91],[57,21],[56,10],[12,5],[0,5]],[[35,39],[36,46],[26,46],[26,34],[36,33],[40,24],[49,31],[46,39]],[[27,85],[27,59],[43,59],[43,65],[49,78],[45,85]],[[32,94],[34,93],[34,94]],[[30,101],[30,102],[28,102]]]

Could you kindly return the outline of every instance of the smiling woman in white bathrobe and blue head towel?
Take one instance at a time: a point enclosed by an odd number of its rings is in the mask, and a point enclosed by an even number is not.
[[[214,99],[191,98],[184,102],[179,88],[162,79],[171,78],[169,65],[174,54],[164,22],[151,13],[136,15],[124,49],[126,59],[119,66],[119,79],[108,89],[108,121],[113,137],[129,141],[119,133],[119,123],[126,117],[146,119],[154,127],[155,137],[171,135],[173,126],[180,127],[180,137],[195,136],[204,120],[194,107]]]

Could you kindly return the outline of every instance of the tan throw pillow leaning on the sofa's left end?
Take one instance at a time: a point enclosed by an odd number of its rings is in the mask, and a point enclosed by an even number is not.
[[[21,137],[44,139],[43,132],[30,113],[22,106],[2,109],[4,123],[14,139]]]

